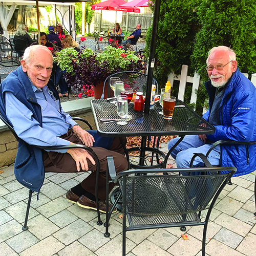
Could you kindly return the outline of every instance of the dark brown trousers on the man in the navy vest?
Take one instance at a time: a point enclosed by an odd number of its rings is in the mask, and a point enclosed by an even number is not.
[[[76,144],[83,144],[74,134],[72,130],[69,130],[68,136],[61,136],[61,138],[69,140]],[[126,140],[126,138],[122,138]],[[125,141],[124,141],[125,142]],[[127,169],[128,164],[126,158],[121,155],[123,153],[123,147],[120,143],[119,138],[114,138],[112,145],[109,150],[102,147],[93,147],[93,151],[99,158],[99,182],[98,182],[98,197],[101,200],[106,198],[106,156],[113,156],[116,173],[123,172]],[[76,173],[76,163],[70,154],[61,154],[58,152],[44,152],[43,160],[46,173]],[[95,195],[95,184],[96,184],[96,164],[93,165],[90,160],[88,161],[89,170],[92,173],[81,182],[83,189],[87,190],[91,194]],[[81,169],[80,172],[83,172]],[[115,186],[114,183],[110,183],[109,191]]]

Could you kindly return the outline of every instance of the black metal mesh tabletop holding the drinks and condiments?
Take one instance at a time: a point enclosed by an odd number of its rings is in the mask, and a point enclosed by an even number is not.
[[[150,110],[149,114],[134,110],[134,104],[128,105],[128,114],[134,120],[127,121],[126,125],[116,122],[104,123],[101,118],[120,119],[117,107],[107,99],[94,99],[91,101],[93,116],[98,134],[101,136],[123,137],[123,136],[148,136],[148,135],[192,135],[212,134],[214,126],[210,125],[195,111],[188,108],[181,100],[176,101],[173,119],[166,120],[160,115],[159,108]],[[200,126],[205,123],[206,127]]]

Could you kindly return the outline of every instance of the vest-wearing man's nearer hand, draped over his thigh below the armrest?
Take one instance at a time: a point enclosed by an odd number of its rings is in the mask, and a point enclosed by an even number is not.
[[[70,145],[75,145],[75,144],[70,142]],[[95,164],[93,157],[83,148],[69,148],[67,153],[69,153],[72,156],[72,158],[75,160],[77,172],[80,171],[80,166],[82,170],[89,169],[87,158],[91,161],[92,164]]]

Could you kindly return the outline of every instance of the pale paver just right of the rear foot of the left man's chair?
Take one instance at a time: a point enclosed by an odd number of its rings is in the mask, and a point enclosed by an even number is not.
[[[38,239],[42,240],[59,230],[59,227],[46,219],[42,215],[38,215],[28,221],[29,231]]]

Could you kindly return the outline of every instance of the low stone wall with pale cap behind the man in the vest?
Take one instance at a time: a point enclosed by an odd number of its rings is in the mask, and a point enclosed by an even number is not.
[[[90,107],[90,101],[92,99],[93,98],[79,99],[74,100],[74,102],[64,102],[61,105],[63,110],[69,113],[72,117],[81,117],[87,119],[87,121],[92,125],[93,130],[96,130]],[[82,122],[78,122],[78,124],[83,129],[88,129],[88,127]],[[17,140],[9,131],[7,126],[0,120],[0,168],[15,162],[17,146]]]

